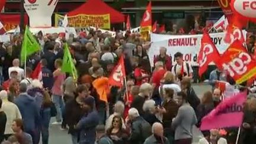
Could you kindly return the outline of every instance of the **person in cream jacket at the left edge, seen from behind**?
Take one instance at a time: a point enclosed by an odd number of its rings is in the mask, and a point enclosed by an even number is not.
[[[0,99],[2,100],[2,110],[7,115],[7,124],[5,127],[4,135],[5,139],[8,139],[9,136],[14,134],[14,132],[11,129],[12,121],[15,119],[21,119],[21,113],[16,104],[8,101],[7,91],[0,91]]]

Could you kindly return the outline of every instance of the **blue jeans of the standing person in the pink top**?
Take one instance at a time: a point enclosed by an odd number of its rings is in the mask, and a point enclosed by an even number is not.
[[[55,107],[56,107],[56,110],[57,110],[56,121],[61,122],[62,121],[62,110],[63,110],[63,107],[64,107],[62,96],[53,95],[52,100],[53,100],[53,103],[55,104]]]

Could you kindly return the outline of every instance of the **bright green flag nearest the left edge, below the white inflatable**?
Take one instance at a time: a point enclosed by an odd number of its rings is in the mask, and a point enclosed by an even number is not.
[[[28,30],[28,27],[26,27],[21,47],[21,63],[24,63],[28,56],[38,52],[40,49],[39,43],[37,43],[33,34]]]

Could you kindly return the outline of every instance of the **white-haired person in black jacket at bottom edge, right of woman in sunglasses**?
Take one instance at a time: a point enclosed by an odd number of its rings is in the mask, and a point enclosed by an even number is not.
[[[130,108],[128,117],[127,123],[131,124],[130,143],[142,144],[151,135],[151,125],[140,117],[136,108]]]

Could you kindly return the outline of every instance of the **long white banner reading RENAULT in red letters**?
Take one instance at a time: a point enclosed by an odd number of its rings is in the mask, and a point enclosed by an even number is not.
[[[246,39],[247,31],[242,31],[244,38]],[[165,35],[165,34],[151,34],[151,48],[149,49],[148,56],[153,66],[153,59],[159,55],[160,47],[167,48],[167,54],[171,56],[172,64],[175,64],[174,55],[177,52],[183,53],[183,59],[185,62],[191,65],[198,65],[197,55],[201,47],[202,34],[197,35]],[[239,36],[239,34],[236,34]],[[224,53],[229,47],[229,43],[225,43],[225,33],[212,33],[213,43],[216,45],[220,54]],[[239,36],[239,39],[241,36]],[[232,38],[236,39],[236,38]]]

